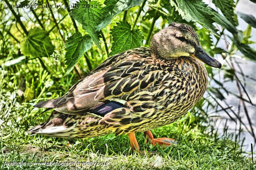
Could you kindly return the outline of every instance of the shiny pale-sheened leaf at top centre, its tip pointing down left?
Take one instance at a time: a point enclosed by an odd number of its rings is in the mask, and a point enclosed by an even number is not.
[[[96,30],[100,31],[102,28],[105,28],[117,14],[140,5],[142,1],[143,0],[105,0],[104,4],[106,6],[102,8],[104,13]]]

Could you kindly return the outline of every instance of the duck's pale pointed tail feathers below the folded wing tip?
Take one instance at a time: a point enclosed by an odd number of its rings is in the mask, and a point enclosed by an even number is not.
[[[41,123],[35,127],[28,129],[26,133],[30,133],[29,136],[42,134],[45,136],[65,138],[65,133],[63,132],[66,132],[69,129],[63,123],[66,117],[67,115],[54,110],[49,119],[47,119],[44,123]]]

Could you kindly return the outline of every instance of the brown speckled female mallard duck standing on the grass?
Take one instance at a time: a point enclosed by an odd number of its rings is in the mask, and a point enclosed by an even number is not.
[[[170,145],[172,138],[156,139],[150,129],[175,122],[203,96],[208,80],[202,62],[221,68],[191,26],[172,23],[153,35],[150,48],[113,55],[62,97],[36,104],[54,110],[27,132],[62,138],[127,133],[138,152],[134,133],[144,132],[151,144]]]

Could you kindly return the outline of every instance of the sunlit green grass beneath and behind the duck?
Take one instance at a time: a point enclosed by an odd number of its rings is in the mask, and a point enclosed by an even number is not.
[[[101,59],[99,59],[101,60]],[[37,60],[4,68],[0,74],[0,168],[66,169],[67,166],[20,165],[7,162],[108,162],[108,166],[83,166],[84,169],[255,169],[232,134],[218,135],[209,125],[207,115],[194,108],[179,121],[154,129],[155,137],[171,137],[177,144],[164,147],[145,143],[143,133],[136,133],[141,150],[153,155],[132,153],[127,135],[108,134],[84,139],[61,139],[42,135],[28,136],[25,131],[50,115],[33,108],[38,101],[63,95],[78,77],[63,77],[63,63],[45,61],[51,73]],[[63,61],[61,61],[63,62]],[[97,65],[92,62],[92,67]],[[1,63],[0,63],[1,64]],[[85,67],[84,67],[85,65]],[[85,59],[79,62],[88,72]],[[18,94],[24,91],[24,94]],[[81,166],[68,166],[79,169]]]

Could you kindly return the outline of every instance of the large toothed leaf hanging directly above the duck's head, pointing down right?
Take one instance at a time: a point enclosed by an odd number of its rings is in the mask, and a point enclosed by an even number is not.
[[[208,31],[220,36],[220,34],[216,32],[218,30],[212,25],[214,15],[210,10],[211,8],[208,8],[207,4],[204,4],[204,2],[200,0],[171,0],[171,5],[175,7],[182,18],[187,16],[201,24]]]

